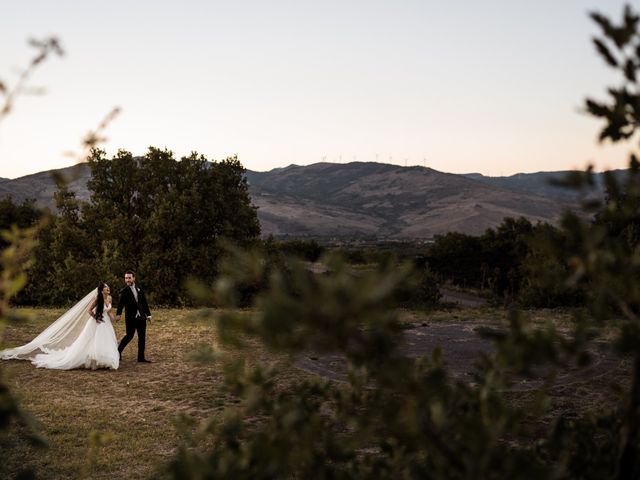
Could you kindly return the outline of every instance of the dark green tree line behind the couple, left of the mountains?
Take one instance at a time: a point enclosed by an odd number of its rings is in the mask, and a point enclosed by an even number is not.
[[[221,239],[248,246],[260,234],[236,157],[209,162],[193,153],[178,161],[151,147],[143,157],[121,150],[108,159],[94,150],[89,166],[88,202],[59,181],[57,213],[39,230],[18,301],[70,303],[98,281],[120,285],[133,269],[156,304],[188,304],[185,280],[213,281]],[[0,203],[2,227],[29,226],[39,215],[32,202]]]

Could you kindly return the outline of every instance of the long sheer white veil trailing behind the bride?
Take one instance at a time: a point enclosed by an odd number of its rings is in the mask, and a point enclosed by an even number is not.
[[[97,291],[94,288],[29,343],[0,351],[0,359],[29,360],[38,353],[49,353],[68,347],[78,338],[91,317],[89,305],[96,297]]]

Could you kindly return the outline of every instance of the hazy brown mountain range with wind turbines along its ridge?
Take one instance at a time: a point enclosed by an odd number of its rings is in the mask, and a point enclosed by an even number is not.
[[[0,181],[0,197],[34,198],[53,209],[54,172],[69,178],[78,198],[89,198],[87,165]],[[352,162],[247,171],[247,181],[264,235],[419,239],[448,231],[480,234],[505,217],[555,223],[576,206],[573,192],[548,184],[566,173],[487,177]]]

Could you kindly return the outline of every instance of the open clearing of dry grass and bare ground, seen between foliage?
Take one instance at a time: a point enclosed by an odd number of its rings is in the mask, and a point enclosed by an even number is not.
[[[9,346],[30,341],[63,310],[24,312],[31,316],[30,321],[7,326],[5,341]],[[38,478],[45,479],[78,478],[80,473],[97,479],[162,477],[180,442],[176,418],[188,415],[204,420],[221,415],[225,407],[238,402],[225,390],[222,364],[198,363],[190,358],[199,346],[216,344],[213,322],[198,319],[190,310],[153,313],[146,352],[151,364],[136,362],[137,339],[125,350],[117,371],[43,370],[29,362],[3,362],[10,388],[22,408],[41,422],[49,448],[30,446],[24,432],[11,427],[7,435],[0,436],[0,477],[14,477],[23,468],[31,468]],[[476,327],[504,325],[506,315],[504,310],[488,307],[403,312],[407,329],[402,349],[417,356],[441,345],[453,377],[464,380],[477,355],[492,350],[491,344],[477,336]],[[559,326],[569,318],[552,311],[534,312],[532,317],[534,321],[553,318]],[[121,338],[124,323],[116,323],[115,328]],[[242,355],[240,351],[227,353]],[[559,377],[552,392],[557,408],[580,410],[609,403],[611,374],[624,376],[626,367],[605,354],[596,354],[595,360],[591,369]],[[252,362],[278,363],[282,375],[278,383],[282,384],[314,374],[344,378],[344,362],[337,356],[309,354],[295,362],[296,368],[285,358],[252,345]],[[532,382],[516,390],[526,395],[537,386],[538,382]],[[103,434],[104,442],[92,453],[90,438],[95,433]]]

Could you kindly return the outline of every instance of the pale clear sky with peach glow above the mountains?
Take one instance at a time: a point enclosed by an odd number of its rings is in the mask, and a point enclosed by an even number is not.
[[[0,123],[0,177],[71,165],[115,106],[108,154],[166,147],[245,167],[375,161],[453,173],[622,168],[580,112],[619,79],[587,13],[617,0],[2,2],[0,79],[29,37],[66,50]],[[636,9],[638,9],[636,5]]]

